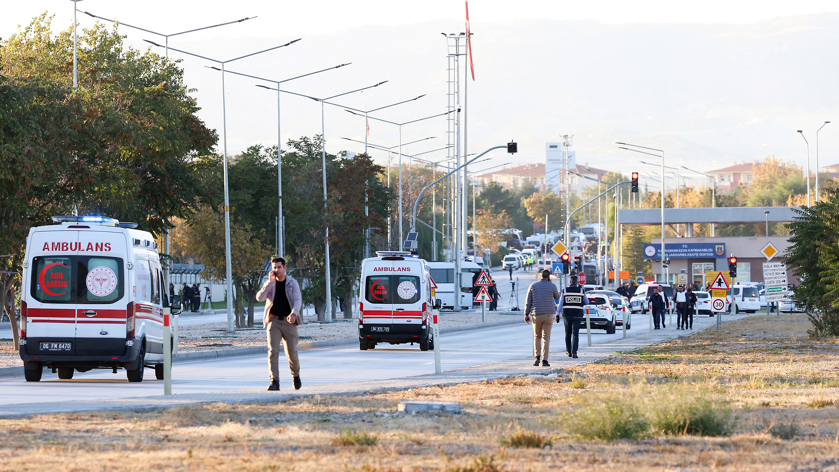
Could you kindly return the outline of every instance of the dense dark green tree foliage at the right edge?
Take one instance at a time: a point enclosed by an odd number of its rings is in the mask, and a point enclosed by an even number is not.
[[[800,279],[795,298],[810,311],[810,334],[839,336],[839,191],[824,193],[825,200],[802,206],[786,224],[791,245],[784,257]]]

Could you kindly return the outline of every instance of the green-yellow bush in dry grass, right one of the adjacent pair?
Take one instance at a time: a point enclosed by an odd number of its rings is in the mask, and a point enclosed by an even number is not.
[[[685,390],[656,397],[650,405],[654,433],[725,436],[731,432],[732,412],[722,399]]]

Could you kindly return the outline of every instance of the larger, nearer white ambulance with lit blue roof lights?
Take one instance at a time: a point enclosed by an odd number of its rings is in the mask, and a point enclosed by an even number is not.
[[[20,357],[27,381],[44,367],[124,369],[163,378],[163,309],[169,307],[157,243],[137,223],[104,216],[54,216],[29,230],[23,262]],[[180,313],[180,297],[173,300]],[[172,340],[170,339],[171,343]]]

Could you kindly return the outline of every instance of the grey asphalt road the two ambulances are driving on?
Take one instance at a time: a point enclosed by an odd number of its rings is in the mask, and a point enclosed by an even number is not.
[[[638,316],[638,315],[636,315]],[[634,323],[628,336],[647,331],[644,322]],[[672,335],[682,331],[672,329]],[[606,335],[598,329],[592,332],[593,344],[621,337],[623,330]],[[508,360],[532,354],[532,331],[524,323],[489,329],[475,329],[440,337],[442,368],[451,371],[477,366],[497,360]],[[585,329],[580,334],[581,350],[586,346]],[[555,324],[551,351],[565,350],[564,329]],[[562,353],[561,355],[565,355]],[[532,360],[531,360],[532,361]],[[358,350],[356,345],[300,351],[301,378],[306,385],[383,380],[418,376],[434,372],[434,352],[422,352],[418,345],[378,345],[374,350]],[[290,388],[291,375],[284,357],[280,358],[281,387]],[[263,389],[268,386],[266,355],[221,358],[177,363],[173,366],[172,391],[178,393],[230,392]],[[0,379],[0,402],[6,404],[55,402],[56,399],[95,400],[99,398],[127,398],[161,395],[163,382],[154,379],[154,371],[145,371],[142,383],[128,383],[125,371],[116,374],[108,370],[76,372],[71,380],[59,380],[44,370],[39,382],[27,382],[22,377]]]

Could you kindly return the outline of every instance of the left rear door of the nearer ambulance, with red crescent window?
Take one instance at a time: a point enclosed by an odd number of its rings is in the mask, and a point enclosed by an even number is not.
[[[73,267],[78,252],[78,231],[65,227],[32,231],[27,261],[29,276],[24,290],[29,355],[72,355],[76,346],[76,297]]]

